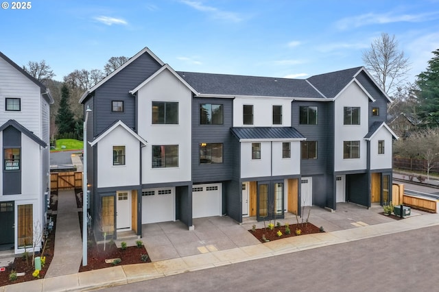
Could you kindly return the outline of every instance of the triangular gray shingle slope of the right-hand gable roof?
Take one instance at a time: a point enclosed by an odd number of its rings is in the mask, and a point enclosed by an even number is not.
[[[324,73],[309,77],[307,80],[313,84],[325,97],[334,98],[340,91],[348,85],[362,67]]]

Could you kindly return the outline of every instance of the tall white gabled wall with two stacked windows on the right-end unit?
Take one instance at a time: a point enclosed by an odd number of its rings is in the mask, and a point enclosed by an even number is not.
[[[335,99],[335,123],[334,123],[334,163],[335,171],[351,171],[366,169],[367,167],[367,143],[364,136],[368,134],[368,96],[361,88],[352,83]],[[344,125],[344,107],[360,108],[360,125]],[[343,158],[343,142],[359,141],[359,158]]]

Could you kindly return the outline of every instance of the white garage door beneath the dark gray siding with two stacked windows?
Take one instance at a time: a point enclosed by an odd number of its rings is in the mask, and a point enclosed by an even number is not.
[[[192,186],[192,217],[222,215],[222,184],[194,184]]]

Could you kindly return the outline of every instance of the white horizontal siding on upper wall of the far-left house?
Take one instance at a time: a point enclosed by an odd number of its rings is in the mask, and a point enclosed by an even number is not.
[[[19,98],[21,110],[6,111],[5,99]],[[40,87],[0,58],[0,125],[14,119],[43,140]]]

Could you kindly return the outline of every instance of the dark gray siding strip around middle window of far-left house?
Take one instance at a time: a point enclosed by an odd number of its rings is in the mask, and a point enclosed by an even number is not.
[[[23,151],[21,150],[21,132],[15,127],[9,126],[3,130],[3,154],[5,148],[20,148],[20,169],[5,170],[3,159],[3,195],[21,194],[21,167],[23,167]]]

